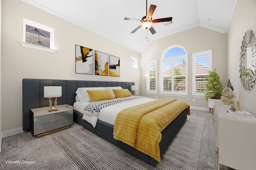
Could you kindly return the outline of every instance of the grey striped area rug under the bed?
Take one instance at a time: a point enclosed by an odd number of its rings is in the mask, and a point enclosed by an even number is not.
[[[84,170],[197,170],[204,118],[189,116],[164,152],[161,163],[151,166],[85,128],[53,138],[74,164]]]

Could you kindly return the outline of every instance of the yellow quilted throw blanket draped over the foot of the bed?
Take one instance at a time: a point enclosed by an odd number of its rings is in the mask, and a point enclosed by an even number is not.
[[[122,141],[161,162],[162,130],[190,106],[176,99],[159,99],[120,111],[114,125],[114,139]]]

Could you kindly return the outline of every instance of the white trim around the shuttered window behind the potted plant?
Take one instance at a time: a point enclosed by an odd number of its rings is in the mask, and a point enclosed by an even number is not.
[[[209,70],[212,71],[212,50],[207,50],[207,51],[200,51],[196,53],[192,53],[192,96],[193,98],[204,98],[204,93],[200,92],[195,92],[195,57],[199,55],[209,55],[209,65],[210,68]]]

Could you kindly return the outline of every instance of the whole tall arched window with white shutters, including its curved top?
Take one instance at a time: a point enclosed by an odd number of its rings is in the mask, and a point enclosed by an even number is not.
[[[188,96],[188,55],[184,47],[172,45],[161,57],[162,95]]]

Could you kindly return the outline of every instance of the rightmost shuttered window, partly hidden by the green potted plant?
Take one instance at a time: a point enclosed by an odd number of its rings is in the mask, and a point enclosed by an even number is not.
[[[193,96],[204,96],[205,79],[212,71],[212,50],[193,53]]]

